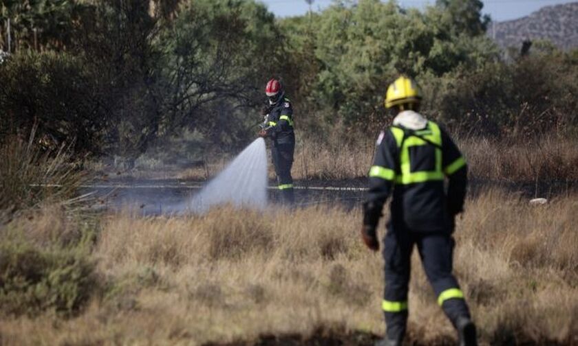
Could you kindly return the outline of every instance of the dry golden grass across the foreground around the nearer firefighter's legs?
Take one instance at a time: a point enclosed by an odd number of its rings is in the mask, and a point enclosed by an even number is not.
[[[576,197],[536,207],[498,191],[469,200],[456,233],[456,273],[483,344],[578,343]],[[19,227],[38,243],[67,235],[66,222],[54,218]],[[91,256],[102,294],[74,319],[0,318],[3,345],[200,345],[320,326],[383,334],[382,260],[358,240],[359,211],[224,207],[100,222]],[[410,310],[412,338],[453,338],[418,258]]]

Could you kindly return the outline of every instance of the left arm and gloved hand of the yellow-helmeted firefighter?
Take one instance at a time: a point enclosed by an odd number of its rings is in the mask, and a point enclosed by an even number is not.
[[[397,145],[391,131],[382,132],[378,138],[375,159],[370,169],[370,189],[363,203],[363,227],[361,237],[365,245],[377,251],[377,224],[383,205],[392,191],[396,176]]]

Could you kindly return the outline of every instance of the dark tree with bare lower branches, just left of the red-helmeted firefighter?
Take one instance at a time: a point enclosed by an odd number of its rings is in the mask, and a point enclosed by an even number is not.
[[[283,47],[275,17],[254,1],[184,3],[158,41],[164,132],[198,128],[231,143],[258,119],[261,84],[279,73]],[[243,111],[244,110],[244,111]]]

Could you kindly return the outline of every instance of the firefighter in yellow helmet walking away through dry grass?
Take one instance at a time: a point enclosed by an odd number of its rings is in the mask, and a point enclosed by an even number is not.
[[[367,247],[378,251],[376,227],[385,201],[392,196],[383,238],[382,308],[387,335],[377,345],[403,342],[414,247],[438,304],[458,330],[460,345],[477,345],[475,325],[452,274],[452,233],[466,195],[466,161],[447,132],[418,113],[421,100],[418,84],[405,76],[387,89],[385,107],[392,108],[396,116],[378,137],[370,189],[363,203],[361,235]]]

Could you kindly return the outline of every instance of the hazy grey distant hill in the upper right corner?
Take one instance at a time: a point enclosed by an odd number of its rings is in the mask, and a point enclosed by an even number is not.
[[[562,49],[578,48],[578,2],[546,6],[520,19],[490,23],[488,34],[501,47],[522,47],[525,40],[547,39]]]

